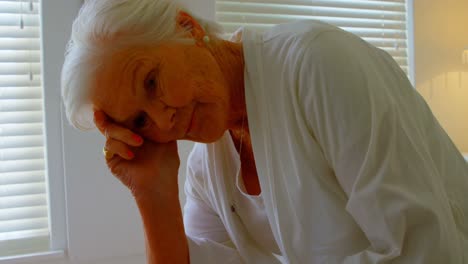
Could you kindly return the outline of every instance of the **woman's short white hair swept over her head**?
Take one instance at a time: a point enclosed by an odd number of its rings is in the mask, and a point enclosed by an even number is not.
[[[66,116],[74,127],[81,130],[94,128],[88,95],[106,55],[129,45],[188,41],[183,37],[184,32],[176,30],[179,11],[190,13],[174,0],[85,2],[73,23],[61,76]],[[222,32],[218,24],[194,18],[207,35],[217,36]]]

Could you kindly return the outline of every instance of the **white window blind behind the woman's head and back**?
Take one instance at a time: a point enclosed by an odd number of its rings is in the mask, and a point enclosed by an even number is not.
[[[230,34],[294,20],[321,20],[387,51],[408,74],[406,0],[216,0],[216,20]]]

